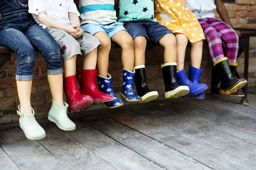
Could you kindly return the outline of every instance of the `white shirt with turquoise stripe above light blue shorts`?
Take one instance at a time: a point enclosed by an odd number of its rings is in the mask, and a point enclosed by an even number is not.
[[[79,12],[81,25],[84,23],[116,23],[114,0],[80,0]]]

